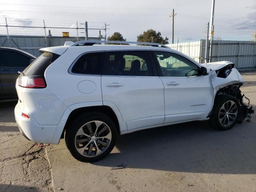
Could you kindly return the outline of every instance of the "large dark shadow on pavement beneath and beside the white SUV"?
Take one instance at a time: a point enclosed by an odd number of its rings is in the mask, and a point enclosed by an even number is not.
[[[120,136],[111,153],[93,164],[154,170],[255,174],[256,123],[244,122],[227,131],[208,122],[189,122]]]

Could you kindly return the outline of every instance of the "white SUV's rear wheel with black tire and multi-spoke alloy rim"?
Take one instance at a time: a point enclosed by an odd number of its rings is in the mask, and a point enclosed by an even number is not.
[[[82,162],[94,162],[107,156],[116,142],[116,126],[104,114],[88,114],[68,128],[65,140],[70,153]]]

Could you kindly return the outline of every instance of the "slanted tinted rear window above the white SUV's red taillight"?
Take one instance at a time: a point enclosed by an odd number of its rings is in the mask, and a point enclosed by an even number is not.
[[[60,55],[44,52],[34,62],[32,62],[23,72],[24,75],[40,75],[43,76],[46,68],[54,62]]]

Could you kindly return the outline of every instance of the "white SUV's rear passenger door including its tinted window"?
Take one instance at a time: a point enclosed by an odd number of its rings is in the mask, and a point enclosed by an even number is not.
[[[148,50],[107,52],[102,100],[114,103],[128,130],[163,124],[164,86]]]

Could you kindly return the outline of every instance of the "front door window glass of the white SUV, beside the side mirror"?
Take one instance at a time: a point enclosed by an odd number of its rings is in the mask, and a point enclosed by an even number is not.
[[[189,77],[198,75],[198,66],[181,55],[164,51],[154,51],[154,55],[160,65],[162,76]]]

